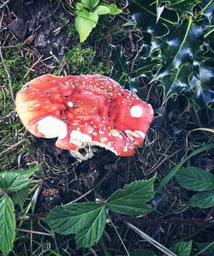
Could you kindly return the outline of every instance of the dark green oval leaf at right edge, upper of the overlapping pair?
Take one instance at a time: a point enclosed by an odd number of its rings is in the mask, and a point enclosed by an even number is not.
[[[214,188],[214,175],[197,167],[181,168],[175,177],[181,187],[193,191],[206,191]]]

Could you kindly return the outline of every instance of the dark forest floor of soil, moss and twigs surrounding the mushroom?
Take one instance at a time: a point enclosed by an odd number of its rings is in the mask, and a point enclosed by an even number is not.
[[[24,223],[18,220],[22,231],[17,231],[14,255],[54,255],[51,250],[56,244],[62,255],[107,255],[106,250],[109,255],[125,255],[122,242],[110,223],[104,231],[104,241],[90,249],[79,250],[75,249],[74,235],[56,235],[54,240],[51,236],[24,230],[45,232],[46,227],[39,217],[45,217],[56,205],[107,199],[126,184],[149,179],[154,174],[158,183],[193,152],[199,141],[210,140],[204,132],[192,132],[194,128],[211,127],[210,110],[197,110],[183,96],[172,97],[162,104],[163,89],[142,78],[137,80],[137,93],[152,104],[155,118],[145,146],[137,149],[132,158],[117,158],[112,152],[97,148],[92,158],[78,162],[67,151],[56,148],[55,139],[39,139],[29,134],[14,104],[16,92],[28,80],[47,73],[104,74],[116,79],[119,71],[114,49],[122,52],[128,63],[127,74],[135,72],[142,34],[136,27],[123,26],[130,20],[126,1],[117,1],[122,14],[102,17],[83,44],[74,31],[72,6],[69,1],[11,0],[0,9],[0,171],[27,169],[37,164],[42,164],[44,171],[39,177],[37,200],[29,211],[29,219]],[[211,170],[214,162],[211,152],[205,152],[191,158],[187,164]],[[34,192],[32,190],[29,198]],[[172,179],[164,193],[158,193],[153,199],[156,211],[149,215],[128,217],[112,213],[111,218],[128,251],[152,248],[160,254],[124,221],[134,223],[165,247],[192,239],[199,243],[211,242],[214,227],[207,220],[213,209],[187,209],[185,202],[191,194]]]

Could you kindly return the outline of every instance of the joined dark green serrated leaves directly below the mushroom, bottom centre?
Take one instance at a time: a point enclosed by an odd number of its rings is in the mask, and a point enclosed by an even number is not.
[[[109,210],[139,216],[153,210],[147,205],[154,196],[156,176],[147,181],[135,181],[117,190],[105,201],[74,203],[52,209],[45,223],[62,235],[75,234],[77,247],[92,247],[104,233]]]

